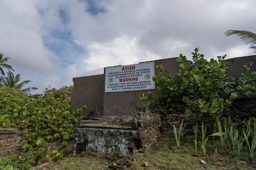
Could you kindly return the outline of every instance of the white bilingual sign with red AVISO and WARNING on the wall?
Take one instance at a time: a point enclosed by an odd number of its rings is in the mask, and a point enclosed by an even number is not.
[[[155,89],[152,76],[154,62],[105,68],[105,92],[143,91]]]

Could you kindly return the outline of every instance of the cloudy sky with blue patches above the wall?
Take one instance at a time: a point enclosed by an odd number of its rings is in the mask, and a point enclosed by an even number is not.
[[[253,55],[227,30],[256,32],[255,0],[0,0],[0,52],[28,87],[184,54]]]

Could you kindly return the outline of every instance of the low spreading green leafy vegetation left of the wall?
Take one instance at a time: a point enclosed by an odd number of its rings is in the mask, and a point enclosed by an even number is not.
[[[22,141],[23,156],[5,158],[1,166],[28,169],[70,152],[65,149],[66,141],[74,139],[74,129],[82,118],[82,108],[70,108],[71,92],[69,86],[28,96],[19,89],[0,87],[0,126],[19,127],[27,137]],[[50,152],[48,143],[54,141],[62,145]]]

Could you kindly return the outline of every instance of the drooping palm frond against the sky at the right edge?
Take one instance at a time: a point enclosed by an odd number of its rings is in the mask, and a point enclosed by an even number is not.
[[[250,31],[244,31],[244,30],[241,30],[241,31],[228,30],[224,32],[224,34],[226,34],[226,36],[237,34],[237,36],[239,36],[239,38],[245,41],[247,44],[252,44],[250,48],[252,48],[254,52],[256,52],[256,34],[255,33],[252,33]]]

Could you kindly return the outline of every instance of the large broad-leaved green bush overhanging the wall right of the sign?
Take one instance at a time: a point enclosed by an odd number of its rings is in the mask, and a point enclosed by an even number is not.
[[[192,61],[182,54],[178,57],[179,71],[175,77],[162,65],[156,66],[161,75],[153,76],[158,95],[153,96],[150,92],[140,95],[151,110],[166,114],[172,102],[183,102],[187,107],[186,115],[196,122],[213,125],[233,100],[255,94],[256,72],[250,72],[252,63],[244,65],[242,77],[235,79],[227,75],[229,62],[225,60],[226,56],[208,61],[198,49],[192,54]]]

